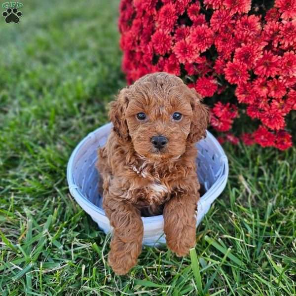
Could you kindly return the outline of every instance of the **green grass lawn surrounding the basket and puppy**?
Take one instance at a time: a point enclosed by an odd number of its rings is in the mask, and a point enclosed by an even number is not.
[[[70,196],[77,142],[125,85],[117,1],[27,1],[0,20],[0,295],[296,295],[296,153],[225,150],[229,182],[190,256],[144,248],[123,277]]]

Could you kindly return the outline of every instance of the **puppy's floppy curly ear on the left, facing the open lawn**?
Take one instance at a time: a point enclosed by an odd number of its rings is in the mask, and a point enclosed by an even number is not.
[[[109,117],[113,123],[113,130],[120,139],[127,141],[129,138],[128,127],[125,120],[125,111],[128,106],[128,88],[123,88],[115,101],[110,103]]]

